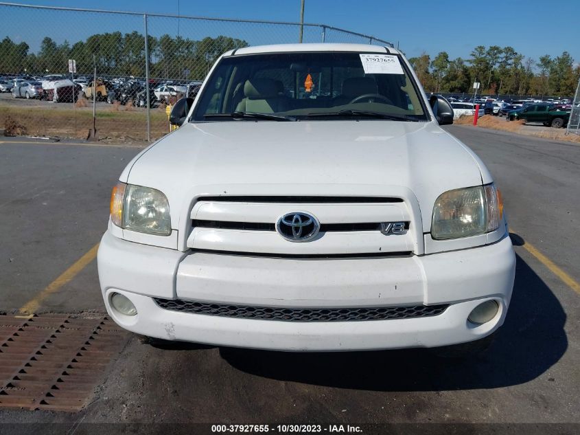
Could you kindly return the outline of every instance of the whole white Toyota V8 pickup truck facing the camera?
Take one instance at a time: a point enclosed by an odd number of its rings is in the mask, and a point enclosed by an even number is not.
[[[220,346],[485,347],[515,256],[489,171],[439,126],[452,118],[391,47],[223,54],[113,189],[108,313]]]

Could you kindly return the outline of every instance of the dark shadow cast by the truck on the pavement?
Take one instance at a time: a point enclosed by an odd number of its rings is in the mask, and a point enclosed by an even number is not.
[[[524,243],[513,235],[514,245]],[[566,351],[566,314],[542,279],[517,257],[506,322],[479,358],[445,359],[428,349],[283,353],[220,348],[231,366],[262,377],[374,391],[498,388],[531,381]]]

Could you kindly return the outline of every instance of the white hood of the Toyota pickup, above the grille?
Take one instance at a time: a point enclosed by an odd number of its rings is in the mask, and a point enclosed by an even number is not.
[[[407,188],[426,232],[439,194],[491,182],[478,157],[434,122],[385,120],[189,123],[143,150],[120,179],[165,193],[174,229],[200,194],[389,196]]]

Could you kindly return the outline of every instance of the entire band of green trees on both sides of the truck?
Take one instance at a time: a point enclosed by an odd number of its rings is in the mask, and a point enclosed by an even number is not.
[[[150,76],[202,80],[213,62],[229,49],[247,47],[246,41],[229,36],[195,41],[165,34],[148,36]],[[93,54],[98,74],[145,76],[145,37],[139,32],[95,34],[71,45],[43,38],[37,53],[27,43],[0,41],[0,74],[66,74],[68,59],[75,59],[77,71],[93,71]],[[478,93],[534,96],[572,96],[580,77],[580,65],[568,52],[538,60],[520,54],[513,47],[475,47],[470,57],[450,59],[447,52],[431,58],[426,52],[410,58],[421,84],[428,92]]]

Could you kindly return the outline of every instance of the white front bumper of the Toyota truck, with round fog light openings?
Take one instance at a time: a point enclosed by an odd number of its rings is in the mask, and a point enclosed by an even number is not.
[[[206,263],[212,258],[215,264]],[[492,245],[428,256],[289,260],[187,254],[106,232],[98,267],[109,315],[135,333],[272,350],[373,350],[446,346],[494,332],[509,306],[515,256],[507,236]],[[137,315],[113,309],[113,292],[126,295]],[[178,295],[262,306],[450,306],[439,315],[402,320],[281,322],[169,311],[153,300]],[[468,322],[472,309],[489,299],[498,302],[496,317],[479,326]]]

